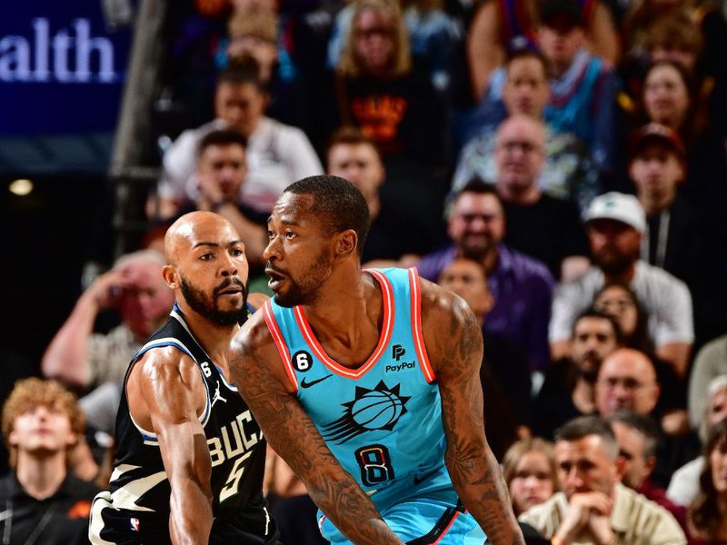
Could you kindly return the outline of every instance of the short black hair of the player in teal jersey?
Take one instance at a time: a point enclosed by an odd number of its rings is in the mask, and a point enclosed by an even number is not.
[[[311,195],[309,212],[318,216],[330,233],[353,229],[358,237],[358,254],[364,252],[369,232],[369,206],[356,186],[339,176],[309,176],[288,185],[283,193]]]

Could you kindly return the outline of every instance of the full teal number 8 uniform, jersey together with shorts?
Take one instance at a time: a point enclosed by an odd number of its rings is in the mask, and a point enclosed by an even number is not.
[[[424,346],[416,269],[368,269],[381,287],[379,342],[357,369],[334,362],[302,307],[274,301],[264,319],[304,411],[383,520],[411,545],[482,545],[444,465],[442,401]],[[319,511],[321,533],[349,544]]]

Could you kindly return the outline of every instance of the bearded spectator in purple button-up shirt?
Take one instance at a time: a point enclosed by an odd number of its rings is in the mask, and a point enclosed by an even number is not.
[[[531,371],[544,370],[550,364],[547,321],[553,276],[543,263],[503,243],[505,214],[493,187],[480,180],[465,185],[454,198],[447,233],[452,243],[424,255],[419,273],[436,282],[455,257],[482,263],[494,299],[485,330],[523,347]]]

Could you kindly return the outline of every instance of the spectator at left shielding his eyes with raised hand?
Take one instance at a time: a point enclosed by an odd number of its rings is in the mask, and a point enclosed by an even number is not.
[[[143,250],[121,256],[97,277],[45,350],[43,374],[82,391],[121,381],[131,357],[174,304],[162,267],[163,255]],[[96,317],[107,310],[116,311],[121,323],[106,334],[95,333]]]

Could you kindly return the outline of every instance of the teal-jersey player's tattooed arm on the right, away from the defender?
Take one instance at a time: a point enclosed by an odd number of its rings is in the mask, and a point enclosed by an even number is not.
[[[484,437],[483,336],[463,299],[422,282],[424,342],[442,395],[447,470],[475,520],[497,543],[524,543],[500,467]]]

